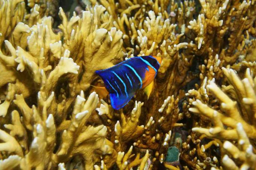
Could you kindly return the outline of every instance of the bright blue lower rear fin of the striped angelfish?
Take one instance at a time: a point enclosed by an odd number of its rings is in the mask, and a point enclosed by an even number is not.
[[[128,94],[128,96],[126,95],[117,96],[116,93],[110,93],[111,106],[115,110],[119,110],[120,108],[124,107],[131,100],[133,96],[134,96],[134,93]]]

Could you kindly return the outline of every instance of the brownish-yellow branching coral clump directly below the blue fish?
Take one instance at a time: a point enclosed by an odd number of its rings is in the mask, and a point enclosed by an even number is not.
[[[113,158],[119,157],[117,152],[126,150],[127,144],[131,142],[133,142],[133,146],[136,148],[153,151],[151,153],[154,154],[154,156],[152,155],[152,164],[157,164],[158,161],[163,162],[163,153],[168,149],[168,143],[171,139],[171,129],[183,125],[182,123],[176,123],[183,117],[182,114],[178,114],[177,104],[178,99],[174,101],[174,96],[169,96],[160,108],[160,113],[162,114],[157,113],[157,116],[154,115],[155,119],[158,120],[157,122],[153,120],[153,117],[150,117],[145,122],[145,125],[139,125],[143,103],[136,101],[130,117],[121,112],[121,121],[117,121],[114,124],[113,120],[116,118],[116,114],[110,109],[111,106],[102,100],[101,107],[97,110],[102,115],[102,118],[104,116],[108,118],[104,123],[108,127],[109,139],[112,142],[109,145],[114,149],[111,155],[105,156],[104,162],[107,167],[112,166],[115,160]],[[139,159],[139,157],[136,159]]]

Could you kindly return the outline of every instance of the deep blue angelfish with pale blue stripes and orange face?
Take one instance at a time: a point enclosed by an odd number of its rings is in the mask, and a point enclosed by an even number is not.
[[[149,98],[161,62],[161,57],[140,56],[127,59],[111,68],[96,71],[110,93],[112,107],[115,110],[124,107],[137,90],[143,88]]]

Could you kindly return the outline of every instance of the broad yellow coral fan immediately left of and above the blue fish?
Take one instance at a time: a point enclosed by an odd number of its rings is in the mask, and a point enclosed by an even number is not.
[[[90,87],[90,83],[95,79],[96,70],[113,66],[112,60],[121,60],[123,56],[122,32],[115,27],[110,31],[98,29],[105,24],[99,19],[104,15],[104,11],[103,6],[94,6],[92,12],[84,11],[82,18],[74,14],[70,21],[67,21],[67,17],[60,9],[62,24],[59,28],[64,33],[63,47],[70,50],[70,56],[75,56],[74,61],[81,67],[77,77],[73,77],[73,86],[76,84],[78,92]],[[59,42],[56,42],[54,46],[59,47],[58,44]]]

